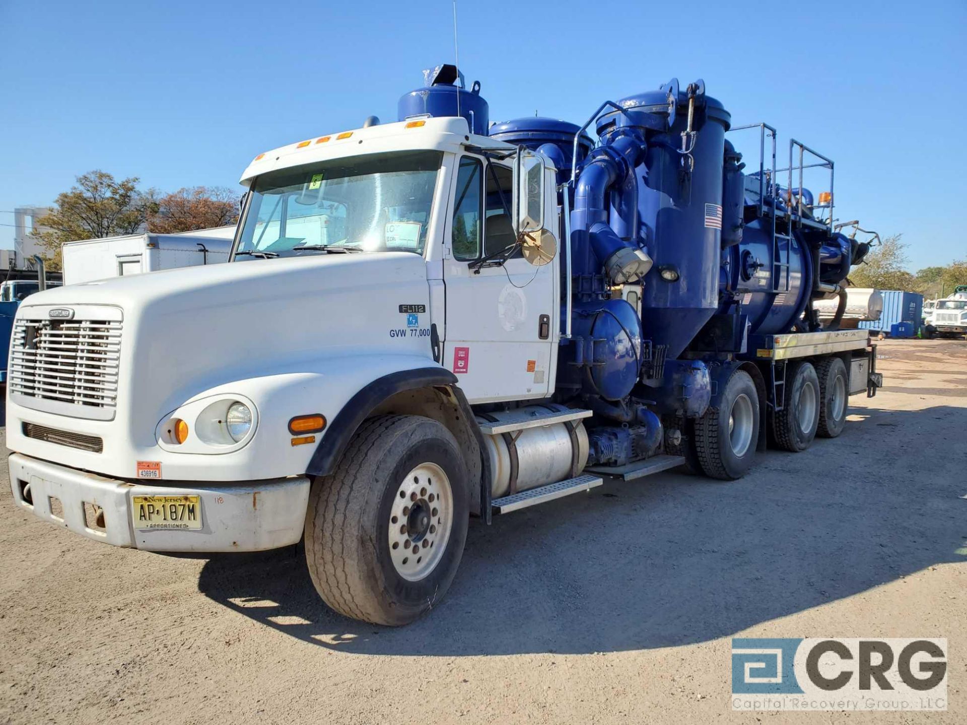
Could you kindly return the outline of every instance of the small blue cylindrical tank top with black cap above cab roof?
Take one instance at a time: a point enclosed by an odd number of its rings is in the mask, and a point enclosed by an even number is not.
[[[459,85],[457,85],[459,81]],[[454,116],[466,119],[471,133],[486,135],[490,123],[490,109],[481,97],[480,81],[466,90],[463,73],[456,66],[445,63],[424,71],[423,88],[402,96],[397,106],[397,120]]]

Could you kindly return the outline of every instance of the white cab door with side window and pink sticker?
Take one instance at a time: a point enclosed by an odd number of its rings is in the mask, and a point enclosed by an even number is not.
[[[546,397],[557,362],[557,260],[535,267],[518,250],[506,262],[474,265],[513,245],[507,213],[513,171],[466,155],[452,176],[441,363],[454,371],[471,403]]]

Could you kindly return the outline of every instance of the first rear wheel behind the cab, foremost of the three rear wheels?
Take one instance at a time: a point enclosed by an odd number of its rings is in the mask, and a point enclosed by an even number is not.
[[[695,453],[706,476],[742,478],[759,440],[759,393],[744,370],[732,373],[717,408],[695,420]]]

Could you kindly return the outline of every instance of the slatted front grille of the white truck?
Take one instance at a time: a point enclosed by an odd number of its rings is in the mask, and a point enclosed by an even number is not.
[[[106,413],[117,403],[121,323],[17,319],[11,340],[10,391],[29,407],[42,401]],[[100,416],[98,416],[100,417]]]

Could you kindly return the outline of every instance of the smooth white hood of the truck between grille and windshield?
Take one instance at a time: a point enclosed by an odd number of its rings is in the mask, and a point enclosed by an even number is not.
[[[91,304],[123,310],[111,425],[127,428],[135,447],[154,446],[161,416],[215,386],[325,371],[326,360],[349,355],[431,357],[428,336],[405,334],[400,305],[429,304],[425,261],[407,252],[256,259],[68,285],[31,296],[21,314]],[[419,317],[428,329],[428,313]]]

